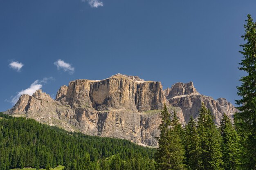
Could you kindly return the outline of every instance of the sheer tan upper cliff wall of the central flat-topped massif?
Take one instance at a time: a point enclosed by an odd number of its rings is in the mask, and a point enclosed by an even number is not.
[[[166,98],[161,83],[136,77],[117,74],[101,81],[78,79],[70,82],[68,87],[62,86],[56,100],[70,106],[92,106],[101,111],[162,109]]]

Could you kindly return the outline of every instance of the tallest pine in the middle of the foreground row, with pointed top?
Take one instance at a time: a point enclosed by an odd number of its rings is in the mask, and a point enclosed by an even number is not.
[[[198,135],[200,138],[200,170],[222,170],[220,134],[213,122],[210,110],[202,103],[198,117]]]

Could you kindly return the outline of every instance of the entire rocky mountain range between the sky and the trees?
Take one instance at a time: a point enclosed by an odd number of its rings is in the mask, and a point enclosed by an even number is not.
[[[169,112],[175,110],[185,125],[190,115],[198,117],[202,102],[213,113],[217,125],[223,113],[232,117],[237,111],[226,99],[201,95],[192,82],[176,83],[163,90],[161,82],[116,74],[103,80],[71,81],[68,86],[61,86],[55,100],[42,90],[32,96],[22,95],[5,114],[33,118],[87,135],[157,146],[160,111],[165,103]]]

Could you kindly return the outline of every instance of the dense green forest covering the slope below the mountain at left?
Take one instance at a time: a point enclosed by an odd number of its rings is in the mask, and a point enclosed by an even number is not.
[[[65,170],[155,170],[155,150],[128,140],[67,132],[3,113],[0,117],[0,170],[58,165]]]

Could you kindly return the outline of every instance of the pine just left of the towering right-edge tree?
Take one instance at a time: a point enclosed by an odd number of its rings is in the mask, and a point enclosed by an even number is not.
[[[222,161],[225,170],[237,170],[238,165],[238,135],[232,126],[230,118],[224,113],[220,122],[222,137]]]

